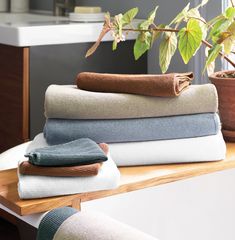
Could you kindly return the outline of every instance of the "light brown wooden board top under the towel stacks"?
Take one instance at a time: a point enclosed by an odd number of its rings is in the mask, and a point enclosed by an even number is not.
[[[73,206],[80,209],[80,204],[84,201],[231,168],[235,168],[235,143],[227,143],[227,156],[223,161],[120,167],[121,184],[117,189],[34,200],[20,200],[17,192],[16,169],[11,169],[0,171],[0,203],[19,215],[45,212],[63,206]]]

